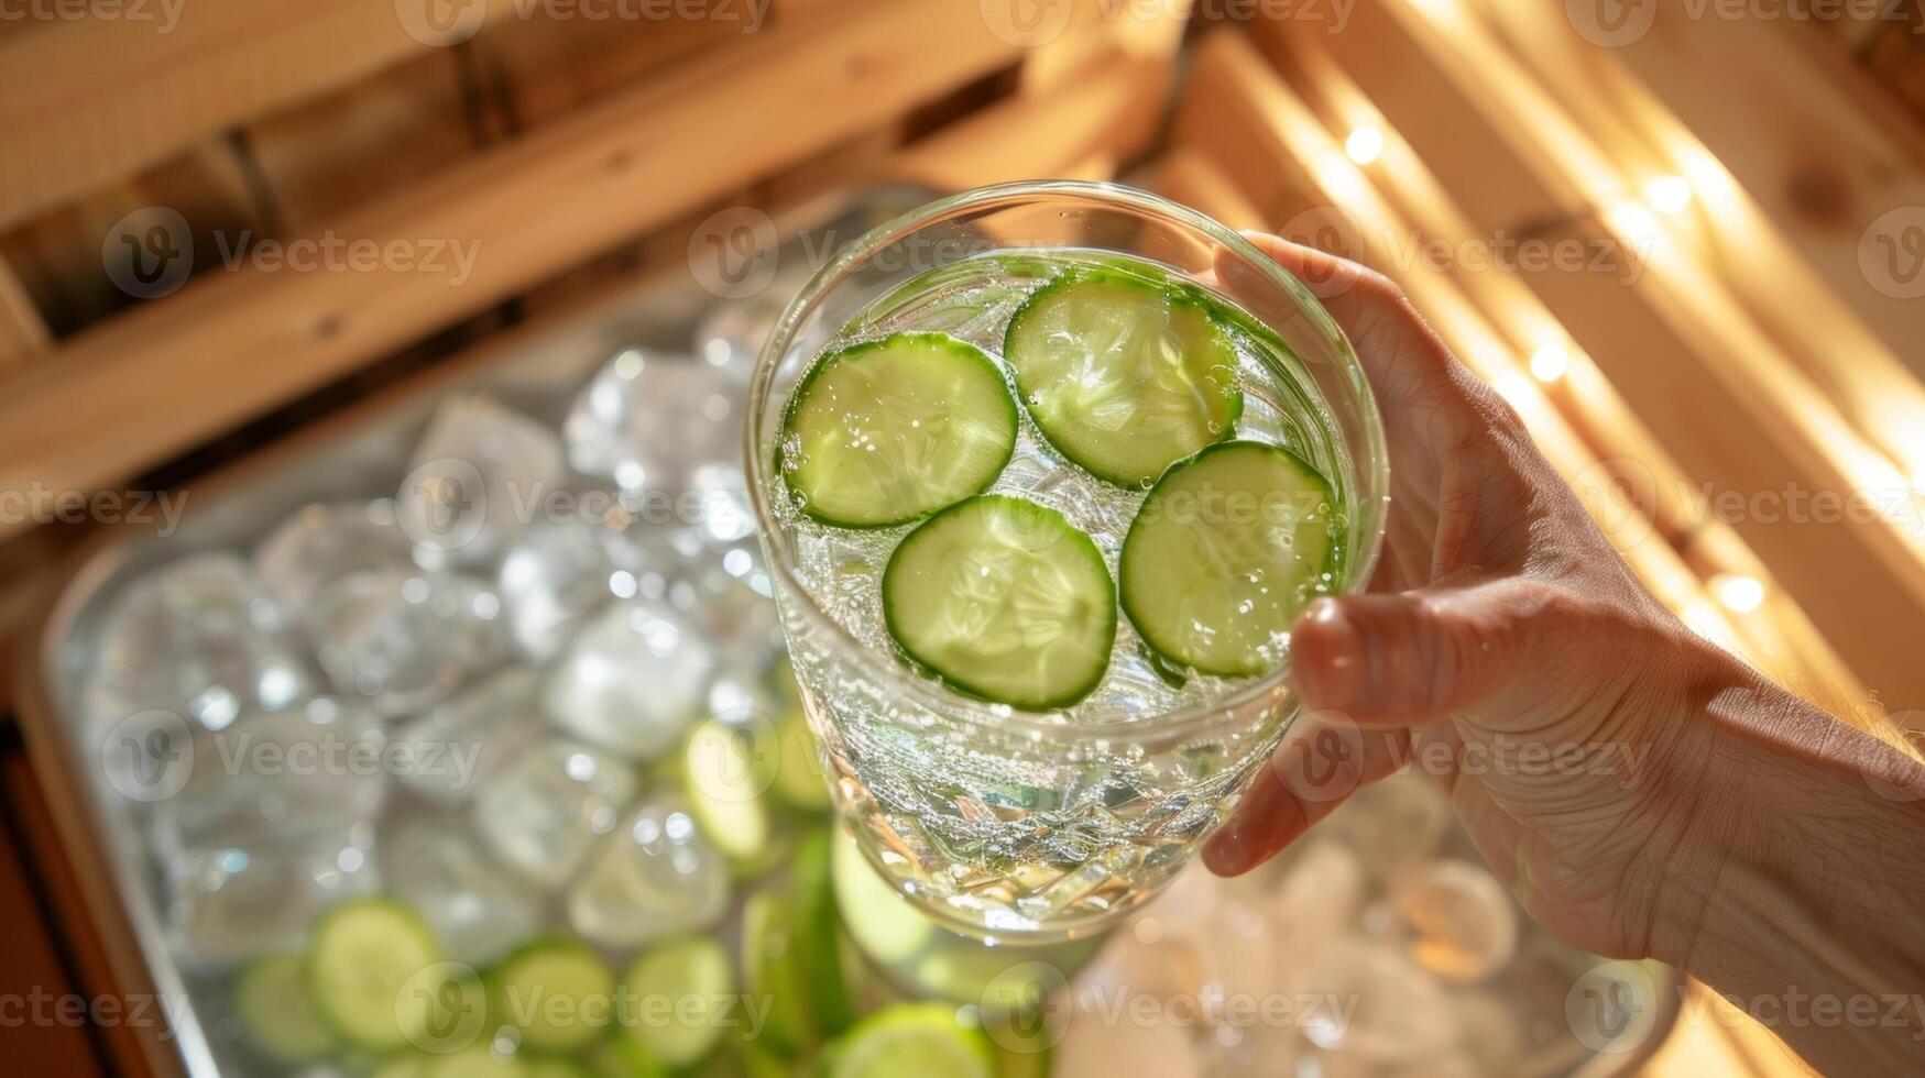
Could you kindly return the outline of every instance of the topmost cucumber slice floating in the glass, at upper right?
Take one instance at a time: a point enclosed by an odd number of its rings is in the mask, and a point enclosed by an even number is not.
[[[1009,320],[1003,358],[1049,445],[1124,487],[1222,441],[1244,412],[1236,346],[1211,308],[1130,273],[1038,289]]]

